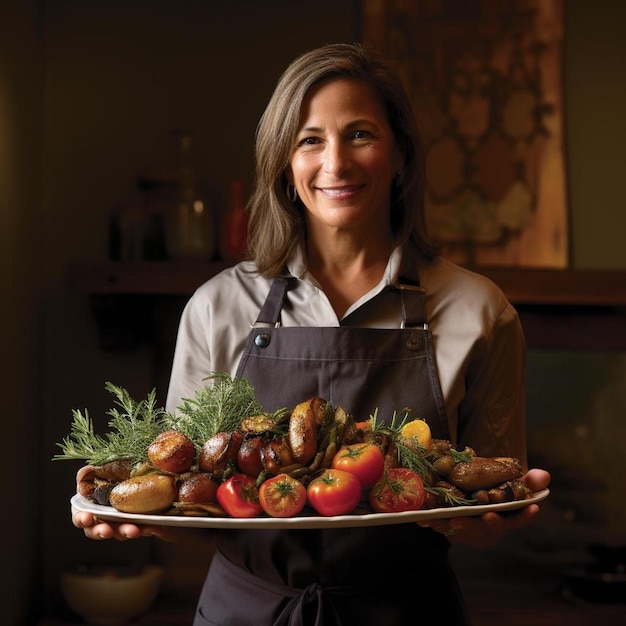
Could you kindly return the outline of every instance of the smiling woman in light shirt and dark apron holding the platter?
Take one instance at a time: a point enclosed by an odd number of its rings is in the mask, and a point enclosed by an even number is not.
[[[517,314],[428,242],[422,149],[392,69],[360,45],[296,59],[260,120],[256,162],[251,260],[185,308],[167,408],[230,372],[268,411],[311,396],[360,419],[411,407],[433,436],[525,464]],[[525,481],[538,490],[549,478],[532,470]],[[537,512],[219,531],[194,624],[468,624],[450,543],[487,545]],[[77,512],[74,524],[92,538],[163,534]]]

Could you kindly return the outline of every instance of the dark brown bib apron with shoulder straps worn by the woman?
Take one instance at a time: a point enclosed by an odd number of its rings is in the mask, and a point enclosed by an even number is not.
[[[427,420],[449,439],[424,291],[394,287],[401,329],[280,326],[292,278],[276,279],[248,338],[237,376],[267,411],[313,396],[357,419]],[[466,625],[448,565],[448,541],[416,524],[315,530],[226,530],[194,626]]]

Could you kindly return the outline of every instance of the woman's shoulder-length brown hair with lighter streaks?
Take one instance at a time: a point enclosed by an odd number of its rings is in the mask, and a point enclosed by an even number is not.
[[[286,171],[295,146],[302,102],[322,81],[349,78],[369,84],[380,98],[399,149],[401,175],[391,195],[396,245],[410,244],[424,259],[437,249],[428,240],[424,217],[424,154],[409,97],[393,67],[362,44],[329,44],[296,58],[282,74],[256,131],[255,189],[248,202],[248,254],[267,277],[284,272],[306,236],[305,208],[287,196]]]

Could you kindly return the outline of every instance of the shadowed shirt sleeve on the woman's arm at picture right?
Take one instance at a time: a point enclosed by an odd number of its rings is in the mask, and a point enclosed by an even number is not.
[[[480,456],[526,459],[526,341],[519,316],[503,298],[491,331],[470,354],[458,442]]]

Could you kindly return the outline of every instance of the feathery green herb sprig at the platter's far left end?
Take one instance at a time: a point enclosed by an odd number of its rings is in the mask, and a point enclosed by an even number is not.
[[[165,409],[157,407],[156,390],[136,402],[122,387],[106,382],[105,388],[115,395],[115,404],[121,409],[107,412],[111,416],[108,425],[112,431],[104,436],[96,434],[89,412],[73,410],[70,434],[57,444],[62,454],[55,455],[53,460],[79,459],[91,465],[121,459],[128,459],[135,465],[147,460],[148,446],[164,429],[168,415]]]

